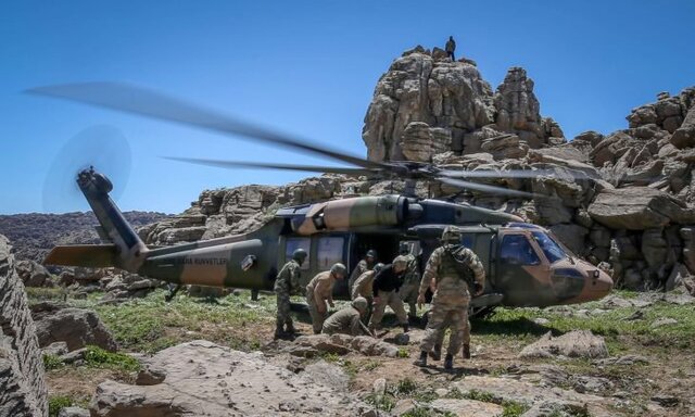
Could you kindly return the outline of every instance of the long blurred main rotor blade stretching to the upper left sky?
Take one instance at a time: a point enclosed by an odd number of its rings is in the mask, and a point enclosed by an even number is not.
[[[291,138],[235,119],[216,111],[189,104],[160,92],[117,83],[85,83],[58,86],[38,87],[27,90],[29,93],[50,96],[85,104],[150,116],[184,125],[215,130],[226,135],[239,135],[247,138],[262,140],[267,143],[280,144],[286,148],[332,157],[349,164],[365,168],[383,168],[378,162],[348,155],[299,138]]]

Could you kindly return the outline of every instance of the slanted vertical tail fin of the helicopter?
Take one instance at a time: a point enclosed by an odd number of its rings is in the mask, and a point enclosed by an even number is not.
[[[148,248],[109,197],[113,189],[111,181],[90,167],[77,175],[77,185],[99,219],[103,232],[116,245],[116,266],[136,273],[142,265]]]

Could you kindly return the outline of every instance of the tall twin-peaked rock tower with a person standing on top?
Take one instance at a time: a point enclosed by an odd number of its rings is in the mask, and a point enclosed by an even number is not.
[[[516,149],[500,157],[565,142],[559,125],[541,117],[533,80],[523,68],[510,68],[493,93],[475,63],[452,62],[417,47],[379,79],[362,136],[372,161],[426,162],[445,151],[479,152],[484,139],[501,132],[514,134],[517,142],[495,143],[497,151],[502,146]]]

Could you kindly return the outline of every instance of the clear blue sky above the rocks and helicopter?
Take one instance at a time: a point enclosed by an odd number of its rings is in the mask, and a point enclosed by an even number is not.
[[[43,211],[55,156],[101,124],[119,129],[131,149],[129,177],[115,181],[123,210],[178,213],[205,188],[308,176],[188,166],[161,155],[324,162],[23,94],[27,88],[128,81],[365,155],[363,119],[379,76],[404,50],[441,47],[453,35],[458,54],[476,60],[493,88],[508,67],[526,67],[541,113],[571,138],[626,128],[630,109],[695,85],[693,22],[688,0],[3,1],[0,213]],[[67,198],[46,208],[88,210]]]

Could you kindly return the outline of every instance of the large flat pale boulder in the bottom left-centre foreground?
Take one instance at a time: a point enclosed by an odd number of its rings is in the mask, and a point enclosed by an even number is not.
[[[294,374],[204,340],[182,343],[146,361],[166,372],[147,386],[99,384],[92,417],[130,416],[361,416],[370,412],[336,378]],[[334,371],[334,370],[333,370]],[[320,372],[319,372],[320,374]],[[156,383],[160,381],[159,383]],[[153,384],[152,384],[153,383]]]

